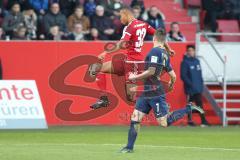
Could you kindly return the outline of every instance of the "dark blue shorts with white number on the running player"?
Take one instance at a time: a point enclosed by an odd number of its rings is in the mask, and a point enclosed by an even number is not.
[[[141,96],[137,99],[135,109],[145,114],[149,114],[151,109],[153,109],[156,118],[163,117],[169,112],[165,95],[152,98]]]

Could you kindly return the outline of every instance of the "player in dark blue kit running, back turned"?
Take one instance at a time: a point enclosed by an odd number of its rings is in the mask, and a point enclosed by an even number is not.
[[[137,138],[138,130],[142,118],[153,109],[157,122],[160,126],[167,127],[173,122],[191,114],[192,110],[204,112],[200,107],[187,104],[183,109],[169,112],[166,102],[166,93],[160,81],[160,75],[166,71],[170,76],[169,89],[173,89],[176,81],[176,74],[171,67],[169,55],[163,45],[166,40],[166,32],[162,29],[156,30],[153,36],[154,48],[145,58],[145,68],[140,74],[130,74],[130,81],[144,80],[144,93],[137,99],[135,109],[131,116],[131,124],[128,132],[128,143],[121,152],[133,152],[134,143]]]

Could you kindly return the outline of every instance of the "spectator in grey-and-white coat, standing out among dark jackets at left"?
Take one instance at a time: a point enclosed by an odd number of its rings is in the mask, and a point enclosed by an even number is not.
[[[37,38],[37,15],[31,6],[23,11],[25,26],[27,27],[27,37],[29,39]]]

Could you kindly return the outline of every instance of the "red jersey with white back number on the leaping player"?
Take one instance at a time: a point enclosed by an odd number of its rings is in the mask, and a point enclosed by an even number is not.
[[[128,60],[144,60],[141,54],[144,38],[146,34],[153,35],[155,29],[146,22],[134,19],[123,29],[121,40],[128,41]]]

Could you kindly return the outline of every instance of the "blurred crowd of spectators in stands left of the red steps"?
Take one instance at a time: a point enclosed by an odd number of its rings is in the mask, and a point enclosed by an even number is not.
[[[117,40],[124,26],[119,11],[122,0],[1,0],[2,40]],[[164,14],[145,8],[144,0],[132,0],[135,18],[154,28],[165,28]],[[169,40],[183,41],[178,23],[171,25]],[[151,40],[151,37],[147,37]]]

